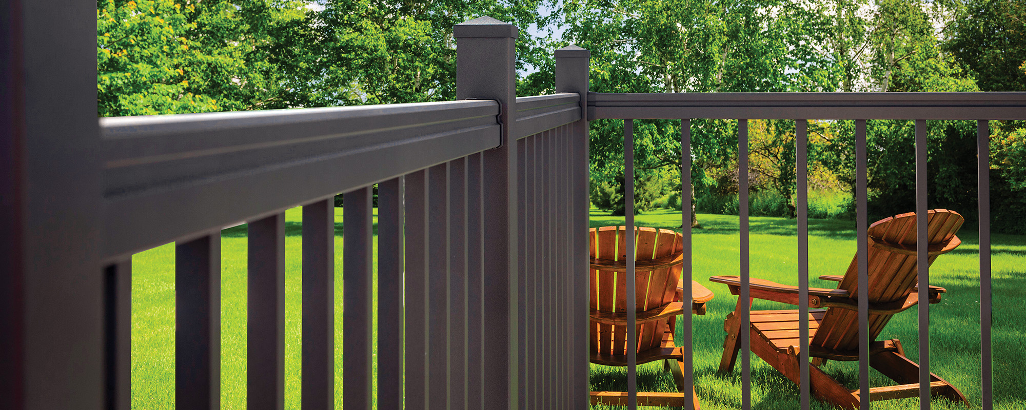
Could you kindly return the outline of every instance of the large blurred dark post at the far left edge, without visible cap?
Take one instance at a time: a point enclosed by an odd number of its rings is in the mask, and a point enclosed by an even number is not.
[[[0,4],[0,407],[119,408],[91,4]],[[108,260],[107,264],[117,260]],[[106,318],[105,318],[106,316]],[[113,339],[107,339],[112,338]],[[106,375],[106,379],[105,379]],[[118,388],[114,388],[114,387]]]

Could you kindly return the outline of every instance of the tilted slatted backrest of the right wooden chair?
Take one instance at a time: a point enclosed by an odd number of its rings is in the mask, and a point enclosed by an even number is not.
[[[961,242],[955,233],[964,218],[947,209],[926,211],[929,262],[934,263],[941,253],[954,249]],[[869,291],[870,302],[904,300],[916,285],[916,217],[914,212],[903,213],[876,221],[869,227]],[[852,297],[862,297],[859,290],[858,256],[838,283],[838,289],[851,292]],[[869,315],[870,340],[883,330],[893,315]],[[859,346],[859,313],[840,308],[827,310],[812,345],[834,351],[853,351]]]

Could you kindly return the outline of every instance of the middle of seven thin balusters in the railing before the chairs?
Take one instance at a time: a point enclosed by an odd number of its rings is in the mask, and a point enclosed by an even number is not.
[[[808,121],[795,120],[795,165],[797,167],[795,207],[798,216],[798,318],[808,318]],[[798,320],[798,340],[806,345],[808,320]],[[798,393],[801,410],[808,410],[808,350],[798,354]]]

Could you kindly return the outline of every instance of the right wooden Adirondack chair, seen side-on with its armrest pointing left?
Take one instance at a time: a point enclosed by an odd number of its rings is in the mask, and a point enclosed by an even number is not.
[[[961,228],[963,218],[957,212],[946,209],[928,211],[929,260],[933,263],[937,256],[947,253],[961,244],[955,233]],[[903,213],[879,220],[869,227],[869,339],[875,340],[891,317],[918,303],[916,286],[916,221],[915,213]],[[858,299],[862,294],[858,289],[857,258],[852,259],[847,272],[840,276],[821,276],[820,279],[839,282],[837,289],[810,288],[810,340],[798,338],[799,314],[791,311],[752,311],[751,347],[759,358],[779,370],[795,383],[799,382],[798,358],[801,348],[808,348],[813,359],[810,365],[810,382],[813,395],[839,407],[857,409],[859,391],[849,391],[817,366],[826,360],[859,360],[859,312]],[[738,277],[714,276],[712,282],[726,284],[731,292],[738,294]],[[930,302],[941,301],[944,288],[931,286]],[[751,279],[750,295],[790,304],[798,304],[798,288],[778,283]],[[750,304],[749,304],[750,305]],[[739,301],[740,309],[740,301]],[[723,358],[720,372],[729,372],[738,357],[741,343],[738,340],[741,320],[736,311],[727,316],[724,330]],[[869,400],[890,400],[919,396],[919,365],[905,357],[898,339],[873,341],[869,346],[869,364],[883,375],[897,381],[899,385],[872,387]],[[969,406],[965,396],[940,376],[931,373],[931,394],[943,396],[952,401],[961,401]]]

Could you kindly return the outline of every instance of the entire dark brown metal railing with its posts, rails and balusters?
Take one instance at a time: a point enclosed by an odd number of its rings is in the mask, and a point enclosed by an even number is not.
[[[555,52],[560,93],[517,98],[517,29],[482,17],[455,28],[458,101],[96,121],[91,5],[66,2],[54,15],[51,4],[16,3],[15,20],[0,19],[0,78],[10,91],[0,97],[0,213],[12,215],[0,218],[0,397],[12,408],[129,408],[130,255],[168,242],[176,242],[175,405],[219,408],[220,231],[243,221],[249,252],[247,407],[282,408],[283,212],[297,205],[303,206],[302,406],[332,408],[339,346],[333,345],[331,197],[340,192],[346,203],[347,409],[371,407],[374,360],[382,409],[585,408],[588,121],[599,118],[628,120],[628,193],[631,119],[685,119],[685,188],[686,119],[858,120],[862,255],[865,120],[918,120],[920,212],[925,211],[922,121],[980,120],[984,408],[990,406],[985,120],[1026,117],[1023,93],[595,94],[588,92],[590,54],[571,46]],[[62,28],[60,35],[50,30],[54,26]],[[744,174],[747,121],[739,120],[738,127]],[[797,127],[799,283],[805,301],[804,120]],[[371,356],[374,183],[377,359]],[[742,178],[740,264],[747,300],[745,183]],[[688,209],[689,197],[683,201]],[[626,204],[633,215],[633,201]],[[689,276],[690,231],[683,222],[683,275]],[[633,227],[633,216],[627,223]],[[920,223],[920,232],[924,227]],[[920,261],[923,257],[920,247]],[[919,265],[920,352],[922,368],[929,369],[925,268]],[[860,283],[865,279],[863,268]],[[683,283],[689,294],[689,282]],[[807,312],[806,303],[801,310]],[[860,300],[863,332],[867,310]],[[630,312],[633,322],[633,308]],[[746,315],[745,327],[747,320]],[[689,315],[682,326],[686,345]],[[742,337],[747,409],[749,348]],[[689,364],[690,350],[684,352]],[[862,354],[865,359],[865,347]],[[807,352],[802,359],[807,362]],[[865,393],[865,361],[860,370]],[[692,384],[690,371],[686,379]],[[807,374],[802,380],[807,408]],[[929,386],[922,392],[929,395]],[[929,406],[929,400],[922,403]]]

